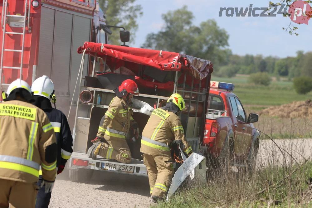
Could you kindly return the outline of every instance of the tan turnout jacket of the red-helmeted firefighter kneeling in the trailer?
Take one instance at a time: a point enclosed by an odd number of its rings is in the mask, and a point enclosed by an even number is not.
[[[131,123],[134,122],[132,115],[133,110],[124,99],[118,96],[114,97],[102,118],[102,125],[99,126],[96,136],[98,138],[105,136],[105,139],[126,139]]]

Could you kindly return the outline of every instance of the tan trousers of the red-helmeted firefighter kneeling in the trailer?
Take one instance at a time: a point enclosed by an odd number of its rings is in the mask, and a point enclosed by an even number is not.
[[[100,155],[107,159],[115,159],[118,162],[130,163],[131,162],[131,152],[127,141],[123,138],[117,139],[106,139],[108,144],[100,143],[95,151],[95,155]]]

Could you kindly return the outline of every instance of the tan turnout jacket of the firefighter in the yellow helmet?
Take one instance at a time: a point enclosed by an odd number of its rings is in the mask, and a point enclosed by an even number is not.
[[[143,130],[140,151],[147,155],[171,155],[169,147],[173,141],[179,143],[185,153],[192,152],[180,118],[171,111],[155,109]]]

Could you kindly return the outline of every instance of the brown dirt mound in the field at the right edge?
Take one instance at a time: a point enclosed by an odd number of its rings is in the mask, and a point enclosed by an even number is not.
[[[290,104],[272,106],[263,109],[259,115],[277,116],[281,118],[312,117],[312,102],[310,99],[307,99],[305,101],[294,101]]]

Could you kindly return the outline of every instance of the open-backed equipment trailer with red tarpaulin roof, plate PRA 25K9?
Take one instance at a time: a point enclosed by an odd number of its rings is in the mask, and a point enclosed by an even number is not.
[[[181,94],[186,107],[179,114],[184,133],[193,151],[200,153],[213,71],[211,61],[168,51],[92,42],[85,42],[78,48],[78,53],[82,54],[82,59],[75,88],[79,95],[75,97],[77,108],[73,128],[73,153],[68,167],[71,181],[86,181],[95,170],[148,176],[140,152],[141,140],[131,143],[129,133],[126,139],[132,155],[129,164],[100,156],[94,160],[87,156],[100,120],[110,101],[116,96],[113,90],[126,79],[134,80],[139,87],[140,94],[135,99],[147,103],[152,109],[165,105],[171,94]],[[86,76],[86,54],[104,60],[108,66],[107,72],[96,73],[93,68],[92,76]],[[133,119],[138,123],[142,135],[150,114],[142,113],[135,103],[131,108],[134,111]],[[174,166],[177,169],[176,163]]]

